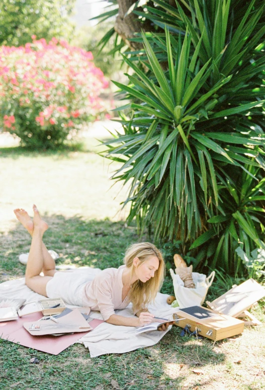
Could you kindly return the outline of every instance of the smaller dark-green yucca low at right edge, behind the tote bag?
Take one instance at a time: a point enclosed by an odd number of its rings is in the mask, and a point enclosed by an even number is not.
[[[238,248],[251,257],[253,248],[262,248],[260,237],[264,236],[265,178],[260,168],[247,167],[252,176],[244,171],[241,175],[227,172],[220,178],[219,193],[222,200],[222,214],[210,218],[209,230],[192,244],[191,249],[200,246],[197,263],[204,265],[210,259],[211,267],[222,263],[226,272],[240,274],[245,263],[237,256]],[[258,178],[258,180],[256,180]],[[212,228],[210,226],[213,226]],[[241,252],[240,252],[241,253]]]

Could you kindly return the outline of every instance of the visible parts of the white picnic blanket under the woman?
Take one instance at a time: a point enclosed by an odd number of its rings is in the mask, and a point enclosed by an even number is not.
[[[0,295],[7,298],[25,298],[27,302],[45,298],[27,287],[24,277],[0,283]],[[172,319],[172,314],[175,313],[176,308],[171,308],[171,306],[167,305],[167,297],[168,295],[158,293],[154,305],[149,306],[149,311],[156,317]],[[68,307],[72,308],[71,306]],[[124,310],[116,310],[115,313],[125,317],[133,317],[131,306]],[[100,312],[91,312],[90,316],[103,320]],[[124,353],[158,343],[171,329],[171,326],[164,332],[152,331],[141,333],[140,335],[135,334],[136,329],[135,327],[118,326],[104,322],[93,331],[81,337],[78,342],[89,348],[91,357],[97,357],[106,353]]]

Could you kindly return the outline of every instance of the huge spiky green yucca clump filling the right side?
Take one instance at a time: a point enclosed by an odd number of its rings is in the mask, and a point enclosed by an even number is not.
[[[142,34],[129,85],[116,82],[132,103],[125,135],[105,143],[123,162],[113,178],[130,181],[129,221],[242,272],[235,248],[265,247],[264,2],[155,3],[144,14],[164,33]]]

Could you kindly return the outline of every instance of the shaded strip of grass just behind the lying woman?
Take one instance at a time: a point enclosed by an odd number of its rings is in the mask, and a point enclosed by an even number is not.
[[[65,218],[62,215],[44,215],[43,219],[50,227],[43,241],[48,249],[60,255],[58,264],[101,269],[118,267],[126,248],[139,241],[135,227],[125,227],[123,221],[84,221],[78,216]],[[18,256],[29,252],[30,243],[31,237],[20,223],[8,234],[0,235],[0,267],[5,276],[2,279],[23,275],[25,266],[19,263]]]

